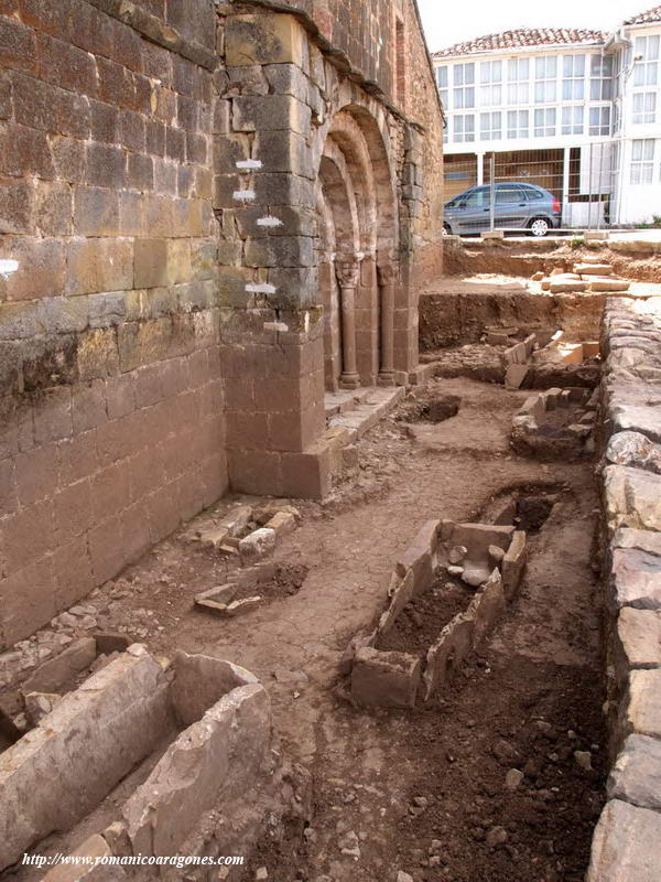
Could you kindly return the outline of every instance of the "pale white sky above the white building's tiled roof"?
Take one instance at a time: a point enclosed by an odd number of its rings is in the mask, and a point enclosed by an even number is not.
[[[611,31],[651,9],[653,0],[418,0],[430,52],[513,28],[592,28]]]

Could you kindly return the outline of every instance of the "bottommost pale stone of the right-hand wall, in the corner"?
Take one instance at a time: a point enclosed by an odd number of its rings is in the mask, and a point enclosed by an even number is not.
[[[659,882],[661,815],[611,799],[595,830],[585,882]]]

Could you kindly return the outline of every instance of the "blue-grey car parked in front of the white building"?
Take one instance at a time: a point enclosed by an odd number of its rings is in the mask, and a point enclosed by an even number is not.
[[[545,236],[557,229],[562,219],[560,200],[537,184],[512,182],[495,184],[494,225],[498,229],[529,229],[533,236]],[[489,229],[491,187],[473,186],[445,203],[443,228],[448,234],[465,236]]]

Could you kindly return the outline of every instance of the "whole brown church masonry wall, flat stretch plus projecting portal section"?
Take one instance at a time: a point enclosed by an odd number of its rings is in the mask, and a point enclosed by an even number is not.
[[[229,486],[328,490],[319,163],[340,148],[372,201],[360,364],[373,381],[386,290],[405,383],[442,255],[413,0],[0,0],[0,647]]]

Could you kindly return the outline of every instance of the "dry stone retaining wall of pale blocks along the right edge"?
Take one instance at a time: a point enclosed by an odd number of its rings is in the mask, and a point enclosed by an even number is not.
[[[661,301],[613,299],[602,493],[614,766],[588,882],[653,882],[661,861]]]

